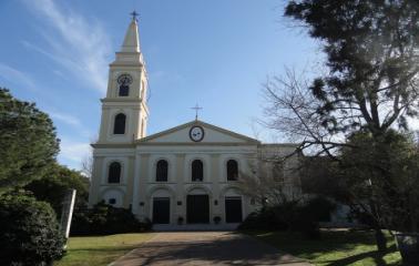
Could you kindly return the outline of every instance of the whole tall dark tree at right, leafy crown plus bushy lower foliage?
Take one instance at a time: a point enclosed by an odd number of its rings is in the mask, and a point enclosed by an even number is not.
[[[303,149],[317,145],[317,154],[339,163],[347,200],[372,217],[377,239],[385,242],[382,227],[417,224],[406,219],[417,216],[416,196],[407,190],[411,184],[418,191],[417,163],[388,137],[394,129],[408,131],[407,119],[419,114],[419,1],[293,0],[285,16],[320,41],[328,73],[306,88],[305,101],[282,106],[303,120]],[[295,109],[299,102],[304,106]],[[298,132],[293,125],[287,130]],[[385,243],[377,246],[382,250]]]

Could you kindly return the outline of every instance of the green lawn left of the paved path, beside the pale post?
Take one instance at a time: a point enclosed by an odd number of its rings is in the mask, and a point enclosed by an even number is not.
[[[108,265],[152,236],[152,233],[142,233],[70,237],[67,255],[54,266]]]

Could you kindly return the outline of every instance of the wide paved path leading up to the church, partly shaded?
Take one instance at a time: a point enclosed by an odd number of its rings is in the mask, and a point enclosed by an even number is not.
[[[235,232],[159,233],[112,266],[287,265],[310,264]]]

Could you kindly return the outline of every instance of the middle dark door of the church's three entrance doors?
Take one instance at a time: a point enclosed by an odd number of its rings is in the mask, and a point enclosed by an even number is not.
[[[188,224],[209,223],[209,196],[188,195],[186,198],[186,222]]]

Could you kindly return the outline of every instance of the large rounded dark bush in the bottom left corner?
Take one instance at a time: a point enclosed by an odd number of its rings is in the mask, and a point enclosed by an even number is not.
[[[48,203],[19,194],[0,196],[0,265],[50,265],[64,237]]]

